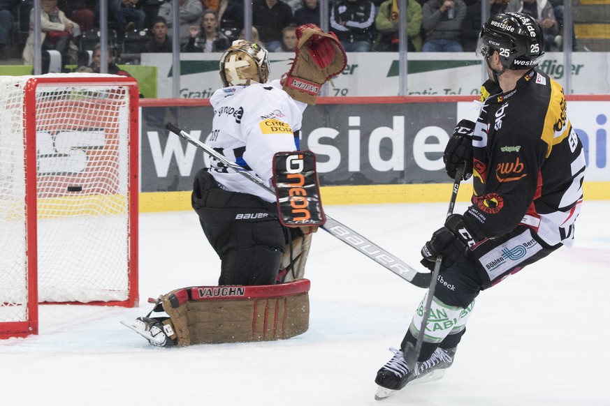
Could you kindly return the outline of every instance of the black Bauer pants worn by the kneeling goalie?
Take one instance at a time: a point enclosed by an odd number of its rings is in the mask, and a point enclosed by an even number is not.
[[[191,204],[222,261],[219,285],[275,285],[289,238],[275,204],[223,190],[205,170],[196,174]]]

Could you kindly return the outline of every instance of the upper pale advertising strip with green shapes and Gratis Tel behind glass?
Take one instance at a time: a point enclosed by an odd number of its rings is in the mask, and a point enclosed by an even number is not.
[[[180,98],[209,98],[220,86],[218,53],[180,54]],[[294,54],[269,54],[270,79],[279,79],[289,69]],[[411,52],[407,55],[407,95],[468,96],[479,94],[486,77],[481,59],[474,52]],[[142,65],[158,69],[159,98],[173,97],[170,54],[142,54]],[[610,52],[574,52],[572,54],[572,94],[610,93]],[[349,52],[347,68],[333,79],[334,87],[323,91],[330,97],[398,96],[398,53]],[[547,52],[539,68],[564,83],[566,69],[563,54]]]

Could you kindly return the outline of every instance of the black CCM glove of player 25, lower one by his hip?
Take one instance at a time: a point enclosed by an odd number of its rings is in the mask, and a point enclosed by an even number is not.
[[[447,217],[444,227],[432,234],[432,239],[421,248],[421,264],[434,270],[437,255],[442,255],[442,266],[448,268],[466,255],[467,248],[476,243],[460,214]]]

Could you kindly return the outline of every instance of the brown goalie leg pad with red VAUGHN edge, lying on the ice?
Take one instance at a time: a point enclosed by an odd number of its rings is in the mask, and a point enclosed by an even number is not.
[[[280,285],[201,286],[160,300],[177,345],[246,343],[291,338],[309,328],[307,279]]]

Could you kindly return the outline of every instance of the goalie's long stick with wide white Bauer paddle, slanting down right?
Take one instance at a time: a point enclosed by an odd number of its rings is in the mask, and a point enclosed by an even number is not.
[[[245,176],[250,181],[253,181],[257,185],[261,186],[261,188],[275,195],[275,190],[268,186],[261,178],[259,178],[259,176],[248,172],[243,167],[240,167],[240,165],[237,163],[228,160],[221,153],[218,153],[203,142],[194,139],[189,133],[180,130],[180,128],[177,128],[177,126],[174,126],[172,123],[166,123],[166,128],[175,135],[179,135],[180,137],[184,138],[184,140],[187,140],[197,148],[203,149],[205,153],[208,153],[210,156],[213,156],[227,167],[230,167],[235,172]],[[402,262],[395,255],[388,253],[388,251],[377,246],[375,243],[365,239],[354,230],[351,230],[351,228],[328,216],[328,214],[326,214],[326,223],[321,228],[322,230],[335,236],[335,238],[347,243],[347,245],[351,246],[351,248],[355,248],[358,250],[358,252],[363,253],[371,260],[377,262],[377,264],[384,266],[384,268],[400,276],[400,278],[407,280],[407,282],[423,288],[427,288],[430,285],[430,273],[421,273],[416,271],[405,262]]]

